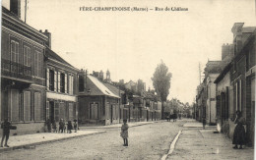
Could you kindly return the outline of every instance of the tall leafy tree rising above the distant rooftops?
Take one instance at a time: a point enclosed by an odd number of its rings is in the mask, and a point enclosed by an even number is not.
[[[168,72],[167,66],[161,60],[160,64],[156,68],[152,80],[153,86],[158,95],[160,95],[160,99],[162,102],[166,101],[169,94],[170,79],[171,73]]]

